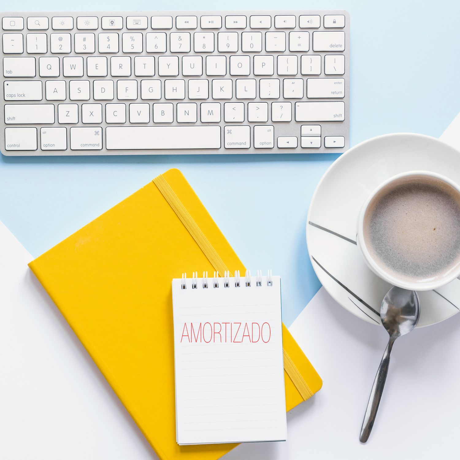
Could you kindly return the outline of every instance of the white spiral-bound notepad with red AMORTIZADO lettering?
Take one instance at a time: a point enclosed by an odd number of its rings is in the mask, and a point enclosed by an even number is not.
[[[279,276],[173,280],[176,440],[286,440]]]

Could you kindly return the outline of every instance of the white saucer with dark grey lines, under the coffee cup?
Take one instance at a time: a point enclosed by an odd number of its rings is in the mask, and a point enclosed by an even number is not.
[[[387,134],[340,156],[316,187],[307,217],[307,246],[320,282],[340,305],[380,324],[380,305],[391,286],[368,268],[356,245],[357,218],[367,196],[384,180],[413,170],[434,171],[460,184],[460,152],[421,134]],[[419,292],[417,327],[460,309],[460,280]]]

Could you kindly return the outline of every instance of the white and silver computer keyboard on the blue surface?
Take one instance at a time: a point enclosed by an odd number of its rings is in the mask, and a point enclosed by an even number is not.
[[[3,155],[338,153],[346,11],[2,13]]]

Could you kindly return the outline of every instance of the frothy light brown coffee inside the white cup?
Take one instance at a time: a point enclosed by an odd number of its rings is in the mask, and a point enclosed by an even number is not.
[[[370,201],[363,236],[370,256],[398,279],[449,276],[460,265],[460,194],[434,177],[396,179]]]

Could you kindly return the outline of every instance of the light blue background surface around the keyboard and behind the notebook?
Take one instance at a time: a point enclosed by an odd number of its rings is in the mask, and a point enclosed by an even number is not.
[[[9,11],[37,11],[16,1]],[[351,16],[350,145],[389,132],[438,137],[460,110],[460,2],[43,0],[42,11],[345,9]],[[158,6],[156,6],[158,8]],[[305,221],[338,155],[0,157],[0,220],[35,257],[168,168],[182,170],[243,263],[282,276],[289,326],[320,287]],[[184,248],[184,250],[186,250]],[[0,255],[1,256],[1,255]]]

